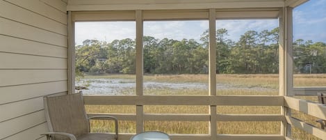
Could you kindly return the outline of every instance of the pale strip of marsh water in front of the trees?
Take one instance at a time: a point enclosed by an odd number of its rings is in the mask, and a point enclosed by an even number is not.
[[[136,93],[135,79],[82,79],[76,81],[76,86],[88,84],[87,90],[82,90],[84,94],[100,95],[134,95]],[[160,81],[144,81],[145,90],[203,90],[208,91],[208,83],[185,82],[168,83]],[[218,90],[252,90],[252,91],[272,91],[272,88],[244,87],[231,84],[216,84]]]

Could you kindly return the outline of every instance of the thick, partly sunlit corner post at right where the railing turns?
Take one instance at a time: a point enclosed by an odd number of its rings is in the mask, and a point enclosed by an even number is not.
[[[293,95],[293,8],[280,10],[279,17],[279,95]],[[281,114],[291,116],[291,109],[281,108]],[[281,123],[281,134],[291,137],[291,125],[285,120]]]

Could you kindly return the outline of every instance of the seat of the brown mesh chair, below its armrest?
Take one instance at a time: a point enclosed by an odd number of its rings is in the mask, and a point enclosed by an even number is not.
[[[77,137],[77,140],[114,140],[115,134],[108,133],[88,133]]]

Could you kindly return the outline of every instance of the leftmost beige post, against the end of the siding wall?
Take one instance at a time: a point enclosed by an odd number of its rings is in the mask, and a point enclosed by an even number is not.
[[[72,11],[68,11],[68,94],[74,93],[75,82],[75,51],[74,51],[74,21],[72,19]]]

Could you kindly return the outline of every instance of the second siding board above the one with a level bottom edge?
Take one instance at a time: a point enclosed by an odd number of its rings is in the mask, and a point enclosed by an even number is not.
[[[62,47],[67,46],[67,36],[58,33],[52,33],[43,29],[38,29],[33,26],[14,22],[0,17],[0,34],[6,36],[14,36],[17,38],[24,38],[27,40],[35,40],[51,45],[58,45]]]

